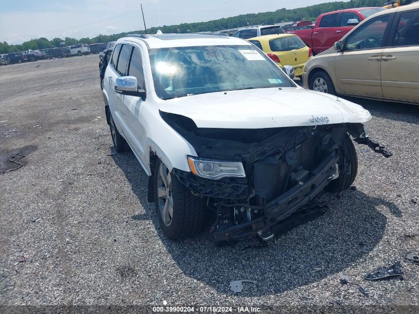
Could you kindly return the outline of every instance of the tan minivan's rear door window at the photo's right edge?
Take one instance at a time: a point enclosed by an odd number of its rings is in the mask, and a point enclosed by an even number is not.
[[[393,46],[416,45],[419,45],[419,10],[400,14],[393,37]]]

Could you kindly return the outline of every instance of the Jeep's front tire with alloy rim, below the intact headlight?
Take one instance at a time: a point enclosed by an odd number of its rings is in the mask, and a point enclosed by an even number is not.
[[[166,237],[188,238],[201,231],[204,199],[193,195],[160,159],[154,169],[154,198],[159,225]]]

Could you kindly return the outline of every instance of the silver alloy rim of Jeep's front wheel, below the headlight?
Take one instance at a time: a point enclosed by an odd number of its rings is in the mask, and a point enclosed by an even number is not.
[[[157,198],[162,220],[166,226],[170,226],[173,219],[172,177],[163,163],[157,173]]]

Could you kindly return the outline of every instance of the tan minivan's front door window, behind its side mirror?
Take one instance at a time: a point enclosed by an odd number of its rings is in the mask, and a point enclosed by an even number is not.
[[[345,40],[345,50],[374,49],[382,46],[389,14],[381,15],[363,24]]]

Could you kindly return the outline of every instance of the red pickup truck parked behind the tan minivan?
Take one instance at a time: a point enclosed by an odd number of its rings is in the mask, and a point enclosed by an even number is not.
[[[385,10],[382,7],[359,7],[320,14],[313,29],[291,30],[317,55],[339,41],[355,25],[368,16]]]

